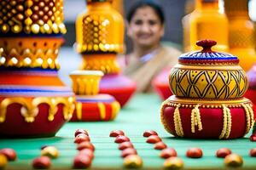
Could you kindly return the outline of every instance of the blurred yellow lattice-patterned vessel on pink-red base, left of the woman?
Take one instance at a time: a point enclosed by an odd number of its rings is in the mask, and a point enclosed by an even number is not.
[[[100,93],[113,95],[124,106],[135,92],[136,85],[127,77],[119,75],[117,54],[123,51],[124,21],[111,2],[87,1],[88,10],[79,14],[76,21],[76,48],[83,56],[82,70],[104,72]]]

